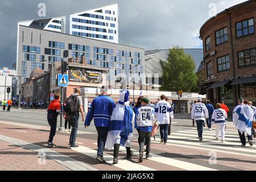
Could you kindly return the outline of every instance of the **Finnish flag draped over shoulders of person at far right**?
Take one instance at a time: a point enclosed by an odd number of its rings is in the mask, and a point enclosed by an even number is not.
[[[251,135],[254,112],[247,105],[239,105],[233,111],[233,124],[242,134],[243,132]]]

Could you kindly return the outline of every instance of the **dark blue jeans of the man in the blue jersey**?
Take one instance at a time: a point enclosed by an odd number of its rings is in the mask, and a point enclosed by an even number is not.
[[[106,138],[108,136],[109,127],[96,127],[98,133],[98,151],[97,155],[103,156],[103,151],[106,144]]]

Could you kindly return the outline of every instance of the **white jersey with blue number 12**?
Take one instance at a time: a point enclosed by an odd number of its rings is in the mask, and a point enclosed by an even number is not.
[[[170,118],[174,118],[174,111],[169,102],[161,100],[155,106],[155,118],[161,124],[170,124]]]

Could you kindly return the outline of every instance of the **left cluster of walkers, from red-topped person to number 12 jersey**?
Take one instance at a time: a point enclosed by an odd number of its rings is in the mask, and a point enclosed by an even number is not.
[[[75,144],[79,111],[82,114],[82,121],[85,129],[90,126],[94,119],[94,126],[97,130],[97,160],[105,163],[103,158],[104,150],[114,148],[113,163],[118,163],[119,147],[126,147],[126,158],[133,156],[131,150],[131,139],[133,138],[133,125],[138,132],[138,150],[139,162],[143,162],[143,153],[146,152],[144,159],[149,159],[151,145],[151,131],[154,127],[160,128],[161,143],[167,143],[167,136],[170,134],[171,119],[174,113],[166,96],[162,95],[161,100],[152,107],[150,100],[146,97],[139,97],[137,105],[132,109],[129,105],[130,92],[127,89],[120,91],[119,101],[115,104],[112,98],[107,95],[108,89],[105,86],[101,88],[101,95],[94,98],[90,104],[86,118],[82,112],[82,101],[79,96],[79,89],[75,89],[75,94],[65,101],[64,117],[71,123],[72,131],[69,139],[71,147],[78,147]],[[51,131],[48,139],[48,147],[56,146],[53,144],[53,137],[56,133],[57,115],[60,113],[60,94],[55,93],[55,100],[48,107],[48,123]],[[146,148],[144,148],[146,146]]]

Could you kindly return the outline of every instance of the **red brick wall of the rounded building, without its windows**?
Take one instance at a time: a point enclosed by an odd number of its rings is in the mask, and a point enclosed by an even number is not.
[[[229,15],[227,13],[222,13],[215,18],[210,19],[207,23],[201,27],[200,35],[204,43],[204,55],[208,55],[212,51],[216,51],[216,55],[208,57],[205,60],[205,72],[207,73],[207,63],[212,61],[213,75],[217,76],[215,81],[222,81],[225,78],[234,78],[233,75],[233,64],[235,68],[235,77],[238,76],[249,76],[256,74],[256,66],[249,66],[245,68],[238,68],[238,57],[237,52],[255,48],[256,47],[256,34],[249,35],[247,37],[236,38],[236,23],[241,20],[248,18],[254,18],[254,31],[256,31],[256,1],[250,1],[249,3],[244,3],[238,5],[228,11],[232,18],[232,35],[233,35],[233,48],[234,57],[232,55],[232,44],[231,44],[231,34],[230,34],[230,23]],[[221,44],[216,47],[216,36],[215,32],[221,28],[228,27],[228,42]],[[212,48],[209,51],[205,51],[205,39],[210,35]],[[217,68],[217,57],[224,55],[229,55],[230,59],[230,69],[228,71],[218,73]],[[207,75],[206,75],[207,76]]]

